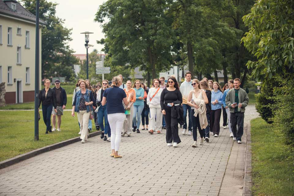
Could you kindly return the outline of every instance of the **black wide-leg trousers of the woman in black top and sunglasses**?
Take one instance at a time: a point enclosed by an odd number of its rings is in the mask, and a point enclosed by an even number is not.
[[[178,119],[171,117],[171,108],[164,105],[165,115],[163,115],[166,123],[166,143],[180,143]]]

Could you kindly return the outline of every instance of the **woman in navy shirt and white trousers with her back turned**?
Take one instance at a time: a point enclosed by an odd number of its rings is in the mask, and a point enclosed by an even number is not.
[[[119,88],[122,84],[122,80],[119,76],[112,78],[111,88],[108,88],[103,93],[103,99],[101,105],[104,106],[107,102],[107,118],[111,129],[111,154],[114,158],[121,158],[118,154],[119,144],[121,140],[121,134],[123,130],[123,122],[125,120],[125,110],[123,103],[129,105],[130,100],[134,96],[131,93],[129,97],[126,97],[126,93],[123,89]]]

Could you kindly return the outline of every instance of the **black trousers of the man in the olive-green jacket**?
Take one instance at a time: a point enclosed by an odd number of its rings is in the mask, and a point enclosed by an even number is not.
[[[231,128],[234,134],[234,137],[237,138],[237,141],[242,138],[243,129],[244,129],[244,112],[230,113],[231,115]],[[237,130],[238,125],[238,130]]]

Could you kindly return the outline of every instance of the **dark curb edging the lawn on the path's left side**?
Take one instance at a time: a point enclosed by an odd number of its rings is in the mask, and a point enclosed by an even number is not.
[[[96,131],[96,132],[90,133],[90,135],[88,137],[91,138],[91,137],[94,137],[94,136],[100,135],[100,134],[101,134],[101,131]],[[32,150],[30,152],[27,152],[27,153],[24,153],[24,154],[15,156],[15,157],[12,157],[10,159],[1,161],[0,162],[0,169],[6,168],[6,167],[8,167],[10,165],[19,163],[19,162],[21,162],[23,160],[26,160],[26,159],[29,159],[29,158],[31,158],[33,156],[39,155],[41,153],[48,152],[50,150],[61,148],[63,146],[72,144],[72,143],[77,142],[77,141],[81,141],[80,137],[71,138],[71,139],[68,139],[68,140],[65,140],[65,141],[58,142],[56,144],[51,144],[51,145],[48,145],[48,146],[45,146],[45,147],[42,147],[42,148],[39,148],[39,149],[36,149],[36,150]]]

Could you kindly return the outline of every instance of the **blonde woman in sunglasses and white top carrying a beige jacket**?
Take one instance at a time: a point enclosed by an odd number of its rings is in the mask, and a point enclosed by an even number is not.
[[[193,126],[192,133],[193,133],[193,139],[194,139],[192,147],[197,147],[197,128],[198,128],[198,131],[200,134],[199,145],[203,145],[204,132],[205,132],[206,126],[208,125],[208,122],[207,122],[207,118],[206,118],[206,113],[204,115],[204,113],[201,114],[199,112],[195,116],[195,111],[197,111],[199,108],[201,108],[201,103],[208,104],[208,99],[207,99],[205,90],[201,89],[199,80],[197,80],[197,79],[192,80],[192,86],[194,89],[192,91],[190,91],[190,93],[189,93],[187,104],[189,106],[191,106],[191,119],[192,119],[192,126]],[[204,105],[203,105],[203,107],[204,107]],[[206,107],[206,105],[205,105],[205,107]],[[202,108],[202,110],[203,110],[203,108]],[[205,111],[205,110],[206,110],[206,108],[203,111]],[[205,124],[205,118],[206,118],[206,124]]]

